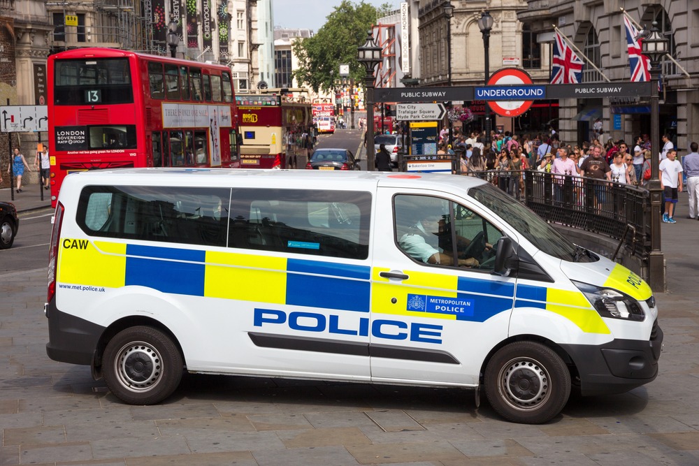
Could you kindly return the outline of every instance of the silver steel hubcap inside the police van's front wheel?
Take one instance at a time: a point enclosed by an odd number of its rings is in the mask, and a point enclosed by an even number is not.
[[[551,394],[546,367],[531,358],[514,358],[500,369],[500,396],[519,411],[532,411],[545,405]]]

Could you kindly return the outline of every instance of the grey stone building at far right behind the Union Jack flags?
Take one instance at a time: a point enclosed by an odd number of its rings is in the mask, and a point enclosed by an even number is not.
[[[640,25],[658,27],[670,40],[670,53],[689,72],[687,77],[671,61],[661,64],[661,135],[667,133],[679,154],[686,154],[691,141],[699,142],[699,1],[698,0],[528,0],[519,10],[519,21],[533,34],[552,32],[552,24],[567,36],[612,82],[629,82],[630,68],[624,29],[624,8]],[[586,64],[584,82],[606,82]],[[577,121],[583,111],[598,110],[603,118],[603,138],[624,139],[650,133],[647,98],[562,99],[557,129],[561,139],[580,143],[590,137],[591,122]]]

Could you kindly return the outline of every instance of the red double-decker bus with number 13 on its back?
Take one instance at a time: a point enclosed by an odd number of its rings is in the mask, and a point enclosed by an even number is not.
[[[51,200],[69,173],[240,166],[226,66],[105,48],[48,59]]]

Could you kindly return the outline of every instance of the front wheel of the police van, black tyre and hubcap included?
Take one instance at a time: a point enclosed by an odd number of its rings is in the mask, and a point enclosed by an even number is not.
[[[540,424],[561,412],[570,396],[570,372],[555,351],[537,342],[500,348],[485,370],[491,407],[507,421]]]

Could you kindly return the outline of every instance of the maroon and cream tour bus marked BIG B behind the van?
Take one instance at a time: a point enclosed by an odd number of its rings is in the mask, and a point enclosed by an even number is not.
[[[238,94],[236,106],[241,167],[296,168],[298,156],[308,154],[310,104],[279,94]]]

